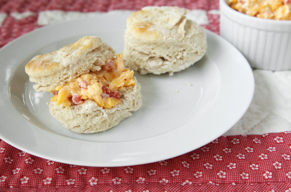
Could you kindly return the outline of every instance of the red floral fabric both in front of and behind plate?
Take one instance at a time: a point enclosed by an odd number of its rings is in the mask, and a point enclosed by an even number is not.
[[[218,0],[0,0],[0,47],[33,29],[45,10],[139,10],[147,5],[206,10],[219,34]],[[15,19],[13,13],[30,11]],[[3,16],[4,15],[4,16]],[[162,152],[162,151],[161,151]],[[291,133],[221,136],[187,154],[145,165],[85,167],[33,156],[0,142],[0,191],[266,191],[291,192]]]

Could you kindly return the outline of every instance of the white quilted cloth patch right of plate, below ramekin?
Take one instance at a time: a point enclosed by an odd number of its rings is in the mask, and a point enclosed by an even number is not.
[[[291,71],[253,70],[255,94],[242,119],[224,135],[291,131]]]

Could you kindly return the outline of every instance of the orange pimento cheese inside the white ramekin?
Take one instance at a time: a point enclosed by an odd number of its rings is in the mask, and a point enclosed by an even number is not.
[[[291,20],[291,0],[229,0],[229,6],[247,15]]]

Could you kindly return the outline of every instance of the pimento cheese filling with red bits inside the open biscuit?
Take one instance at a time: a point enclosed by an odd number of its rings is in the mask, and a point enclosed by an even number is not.
[[[124,68],[123,55],[116,54],[116,58],[107,59],[100,71],[84,73],[72,79],[64,86],[56,87],[50,101],[65,107],[83,103],[85,99],[93,99],[103,108],[111,108],[120,103],[118,90],[134,85],[133,70]]]

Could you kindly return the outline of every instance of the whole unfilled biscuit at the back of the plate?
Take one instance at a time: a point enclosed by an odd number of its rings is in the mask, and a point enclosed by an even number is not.
[[[188,20],[190,10],[147,6],[127,18],[125,66],[141,74],[182,71],[200,60],[206,50],[205,30]]]

